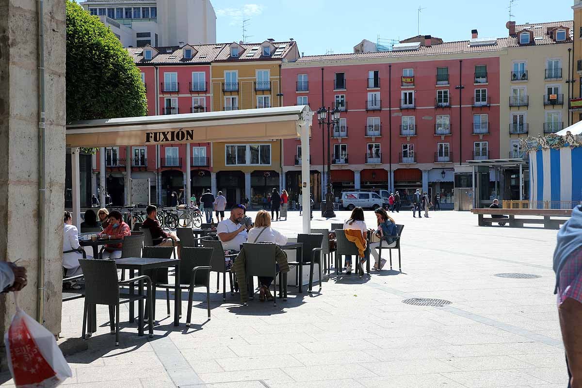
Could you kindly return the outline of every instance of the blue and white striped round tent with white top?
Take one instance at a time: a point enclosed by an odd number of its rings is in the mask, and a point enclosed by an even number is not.
[[[530,162],[530,201],[547,201],[551,208],[582,201],[582,122],[522,145]]]

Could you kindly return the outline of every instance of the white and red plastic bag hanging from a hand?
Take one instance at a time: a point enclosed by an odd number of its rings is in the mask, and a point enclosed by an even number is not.
[[[17,388],[53,388],[73,376],[55,337],[30,318],[18,302],[4,343]]]

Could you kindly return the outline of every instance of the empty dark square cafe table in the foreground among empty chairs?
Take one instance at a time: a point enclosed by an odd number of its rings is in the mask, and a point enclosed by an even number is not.
[[[129,269],[129,277],[134,277],[134,270],[137,270],[137,275],[141,276],[144,274],[145,270],[157,269],[157,268],[175,268],[175,287],[174,287],[174,326],[178,326],[180,323],[180,305],[182,304],[182,290],[180,290],[180,259],[159,259],[159,258],[145,258],[145,257],[127,257],[123,259],[116,259],[115,263],[118,269]],[[155,279],[152,279],[152,283]],[[152,284],[152,290],[155,290]],[[130,286],[129,293],[133,294],[134,287]],[[139,295],[143,295],[143,282],[139,282],[139,287],[137,290]],[[143,309],[143,299],[139,300],[139,308]],[[155,305],[155,294],[152,296],[152,310],[154,310]],[[134,312],[133,312],[134,302],[129,303],[129,322],[133,322]],[[140,328],[140,332],[143,332],[143,328]]]

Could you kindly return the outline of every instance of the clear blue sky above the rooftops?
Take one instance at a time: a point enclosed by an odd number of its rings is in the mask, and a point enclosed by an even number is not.
[[[509,0],[442,0],[430,2],[394,0],[354,2],[350,0],[211,0],[217,13],[218,42],[242,40],[242,21],[249,42],[267,38],[294,38],[305,55],[352,52],[363,39],[402,40],[420,34],[445,41],[467,40],[471,30],[480,37],[505,37]],[[572,20],[573,0],[516,0],[512,20],[517,24]]]

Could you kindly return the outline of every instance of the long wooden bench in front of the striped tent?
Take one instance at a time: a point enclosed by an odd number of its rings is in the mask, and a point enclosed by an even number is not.
[[[523,227],[524,224],[543,224],[545,229],[560,229],[560,225],[570,217],[570,209],[471,209],[471,213],[479,216],[479,226],[493,225],[494,223],[509,223],[512,227]],[[485,215],[504,215],[509,218],[485,217]],[[530,216],[530,218],[516,218],[516,216]],[[531,218],[531,216],[541,216]]]

